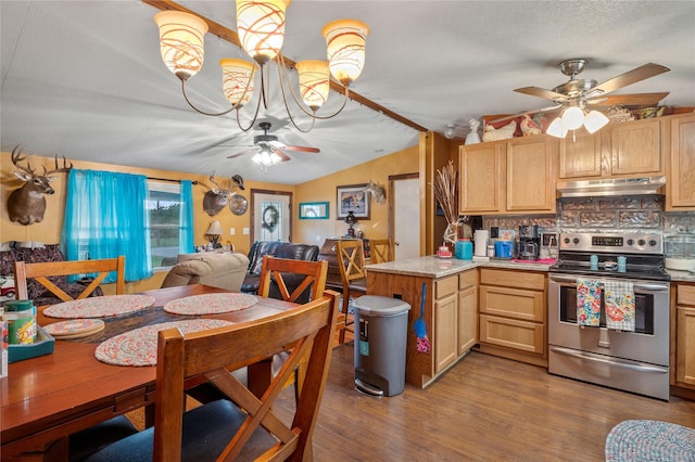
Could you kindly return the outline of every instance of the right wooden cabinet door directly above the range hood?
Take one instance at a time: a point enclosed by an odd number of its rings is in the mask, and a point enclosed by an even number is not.
[[[662,175],[658,119],[616,124],[610,129],[612,176]]]

